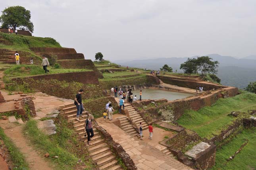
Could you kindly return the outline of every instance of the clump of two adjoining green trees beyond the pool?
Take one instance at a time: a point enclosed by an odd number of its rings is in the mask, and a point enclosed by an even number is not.
[[[217,74],[219,67],[219,61],[212,61],[211,57],[202,56],[197,57],[196,59],[187,59],[185,63],[181,64],[180,69],[184,70],[184,73],[197,73],[200,71],[202,78],[206,76],[206,74]]]

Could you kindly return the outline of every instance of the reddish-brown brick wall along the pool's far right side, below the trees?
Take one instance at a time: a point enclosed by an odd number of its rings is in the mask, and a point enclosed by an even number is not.
[[[167,76],[158,76],[160,80],[162,80],[164,83],[167,84],[173,84],[175,86],[180,87],[186,87],[186,88],[192,88],[196,89],[196,87],[203,86],[204,90],[212,90],[212,89],[219,89],[219,88],[225,88],[227,86],[221,86],[218,84],[210,84],[210,83],[202,83],[202,82],[196,82],[192,80],[178,80],[176,78],[167,77]]]

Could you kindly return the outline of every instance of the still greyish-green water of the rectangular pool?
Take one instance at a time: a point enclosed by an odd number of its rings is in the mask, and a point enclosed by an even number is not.
[[[137,100],[140,99],[140,90],[132,90],[133,96],[137,95]],[[166,90],[157,90],[157,89],[142,89],[142,99],[183,99],[185,97],[194,96],[191,93],[182,93],[182,92],[171,92]]]

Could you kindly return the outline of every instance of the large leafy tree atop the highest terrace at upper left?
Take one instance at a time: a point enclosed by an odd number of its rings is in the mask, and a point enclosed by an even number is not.
[[[26,10],[22,6],[10,6],[2,11],[0,17],[0,23],[2,23],[2,28],[12,27],[14,30],[16,28],[33,32],[34,25],[30,20],[31,14],[29,10]]]

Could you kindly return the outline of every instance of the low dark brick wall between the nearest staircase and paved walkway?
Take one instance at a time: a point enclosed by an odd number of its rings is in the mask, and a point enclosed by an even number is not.
[[[120,158],[122,160],[127,170],[137,170],[135,163],[131,159],[130,155],[125,152],[123,147],[119,143],[116,143],[113,140],[112,136],[104,128],[102,128],[101,126],[95,126],[95,128],[100,132],[100,134],[102,134],[106,143],[111,148],[112,152],[115,153],[117,158]]]

